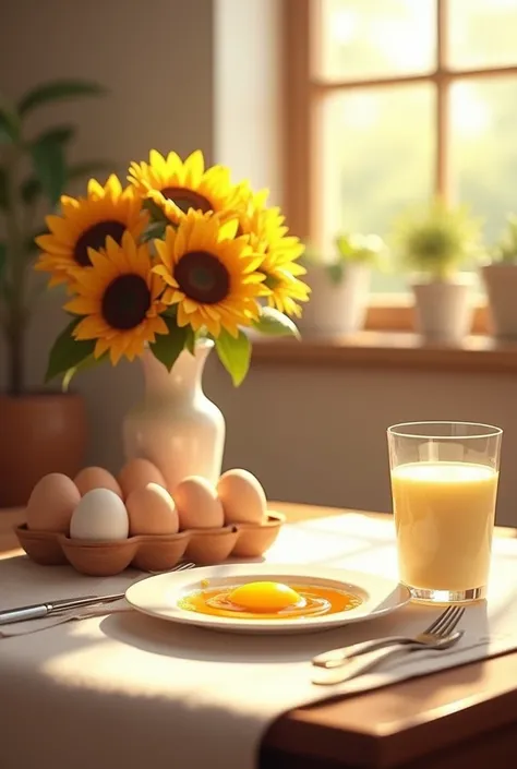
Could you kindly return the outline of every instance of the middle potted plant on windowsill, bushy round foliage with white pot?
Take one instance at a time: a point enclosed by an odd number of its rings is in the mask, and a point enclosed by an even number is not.
[[[470,332],[473,307],[471,280],[459,268],[480,253],[479,223],[464,206],[436,199],[396,223],[394,244],[413,274],[417,331],[432,341],[460,341]]]

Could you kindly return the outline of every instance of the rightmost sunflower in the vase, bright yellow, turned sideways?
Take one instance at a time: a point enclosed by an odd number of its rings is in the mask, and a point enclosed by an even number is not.
[[[299,238],[289,236],[279,208],[264,208],[265,192],[252,195],[248,211],[239,216],[239,232],[250,236],[250,244],[262,255],[261,273],[266,276],[267,303],[299,317],[298,302],[309,300],[310,288],[299,279],[306,269],[297,260],[304,251]]]

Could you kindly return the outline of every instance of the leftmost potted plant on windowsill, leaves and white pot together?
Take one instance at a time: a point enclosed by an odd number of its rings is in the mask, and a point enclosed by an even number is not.
[[[314,248],[305,252],[312,293],[300,327],[311,334],[353,334],[363,327],[372,268],[387,254],[377,235],[342,232],[335,244],[336,254],[327,261]]]

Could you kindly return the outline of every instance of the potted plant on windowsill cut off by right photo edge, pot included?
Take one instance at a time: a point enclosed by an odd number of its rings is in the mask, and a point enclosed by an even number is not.
[[[517,216],[509,214],[506,230],[481,268],[489,298],[492,333],[500,338],[517,337]]]

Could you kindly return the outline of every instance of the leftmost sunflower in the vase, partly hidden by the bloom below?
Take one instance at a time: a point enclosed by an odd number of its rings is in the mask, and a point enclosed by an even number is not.
[[[71,271],[89,266],[88,249],[103,250],[107,238],[120,243],[127,231],[136,239],[147,221],[133,188],[122,190],[115,175],[105,187],[91,179],[86,197],[63,195],[61,214],[47,216],[50,232],[36,238],[44,253],[35,268],[51,273],[50,286],[70,283]]]

